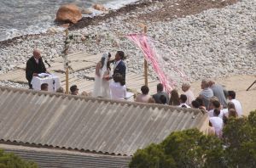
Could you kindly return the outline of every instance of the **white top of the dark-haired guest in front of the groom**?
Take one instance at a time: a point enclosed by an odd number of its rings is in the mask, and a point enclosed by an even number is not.
[[[110,98],[113,100],[124,100],[126,97],[126,86],[121,86],[119,82],[111,82],[110,88]]]

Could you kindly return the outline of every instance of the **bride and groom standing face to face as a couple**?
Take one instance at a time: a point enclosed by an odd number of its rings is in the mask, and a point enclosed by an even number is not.
[[[113,79],[114,82],[120,84],[120,88],[126,92],[125,87],[125,71],[126,66],[123,61],[125,59],[125,53],[118,51],[115,54],[115,58],[110,60],[110,53],[103,53],[101,61],[96,64],[96,76],[94,89],[92,92],[93,97],[100,98],[112,98],[110,91],[110,81]],[[113,73],[111,71],[110,64],[113,63]],[[113,85],[112,85],[113,86]],[[125,95],[124,95],[125,96]],[[122,98],[119,98],[122,99]]]

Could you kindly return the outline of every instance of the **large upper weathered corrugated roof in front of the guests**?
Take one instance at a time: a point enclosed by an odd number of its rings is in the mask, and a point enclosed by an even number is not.
[[[0,87],[0,139],[55,148],[132,155],[171,132],[205,131],[197,109]]]

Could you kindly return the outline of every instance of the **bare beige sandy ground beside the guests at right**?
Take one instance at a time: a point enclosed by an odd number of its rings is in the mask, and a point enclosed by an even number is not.
[[[229,76],[213,80],[223,85],[227,90],[236,92],[236,99],[241,102],[244,115],[249,115],[250,111],[256,109],[256,84],[249,91],[246,91],[256,80],[256,76]],[[195,96],[198,96],[201,92],[201,81],[192,83],[191,90],[195,93]]]

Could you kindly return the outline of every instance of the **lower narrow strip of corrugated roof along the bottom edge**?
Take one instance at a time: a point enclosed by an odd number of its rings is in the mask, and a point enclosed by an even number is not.
[[[15,145],[0,144],[5,152],[11,152],[28,161],[34,161],[42,168],[128,168],[131,157],[112,156],[103,154],[84,154],[80,152],[60,151],[55,149],[42,149],[19,147]]]

